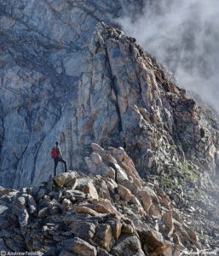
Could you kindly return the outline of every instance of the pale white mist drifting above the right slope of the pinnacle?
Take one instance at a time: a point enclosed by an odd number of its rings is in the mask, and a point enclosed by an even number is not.
[[[147,1],[139,18],[118,20],[124,32],[219,113],[219,1]]]

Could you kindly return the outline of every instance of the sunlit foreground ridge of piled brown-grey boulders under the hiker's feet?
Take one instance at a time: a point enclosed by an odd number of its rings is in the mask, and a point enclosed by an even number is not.
[[[39,255],[180,255],[201,249],[157,184],[124,148],[92,144],[89,176],[66,172],[32,188],[0,189],[0,247]]]

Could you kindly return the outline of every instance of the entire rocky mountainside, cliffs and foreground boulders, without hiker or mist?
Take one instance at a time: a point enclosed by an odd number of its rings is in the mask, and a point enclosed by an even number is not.
[[[218,113],[117,24],[146,4],[0,0],[0,250],[218,255]]]

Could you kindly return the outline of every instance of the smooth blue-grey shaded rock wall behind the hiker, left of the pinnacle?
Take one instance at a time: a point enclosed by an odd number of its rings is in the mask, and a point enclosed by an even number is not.
[[[69,165],[79,168],[86,152],[80,143],[100,137],[88,131],[84,137],[89,117],[78,119],[89,96],[80,95],[88,44],[98,22],[109,23],[132,2],[0,1],[1,184],[17,188],[48,177],[57,139]],[[142,4],[135,1],[135,8]]]

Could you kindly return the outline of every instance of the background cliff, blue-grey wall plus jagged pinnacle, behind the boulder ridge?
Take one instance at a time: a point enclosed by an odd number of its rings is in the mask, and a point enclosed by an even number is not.
[[[99,143],[124,147],[143,177],[185,160],[216,172],[218,130],[134,38],[97,24],[125,2],[0,2],[5,187],[49,177],[56,139],[77,171],[86,169],[89,143]]]

